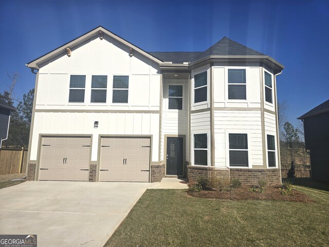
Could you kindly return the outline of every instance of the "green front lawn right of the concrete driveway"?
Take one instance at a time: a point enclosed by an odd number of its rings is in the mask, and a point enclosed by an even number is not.
[[[105,246],[328,246],[329,195],[316,203],[215,200],[149,189]]]

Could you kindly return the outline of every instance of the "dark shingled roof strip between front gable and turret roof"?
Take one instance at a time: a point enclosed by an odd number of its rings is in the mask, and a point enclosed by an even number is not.
[[[172,63],[185,63],[191,62],[198,55],[202,54],[203,51],[149,51],[153,57],[160,59],[163,62]]]

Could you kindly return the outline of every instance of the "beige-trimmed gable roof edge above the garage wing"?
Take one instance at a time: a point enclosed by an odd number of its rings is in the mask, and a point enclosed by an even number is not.
[[[52,51],[48,52],[47,54],[45,54],[37,59],[34,59],[25,65],[28,66],[29,68],[39,69],[39,66],[42,65],[43,63],[46,63],[49,60],[56,58],[60,55],[66,54],[66,52],[67,52],[66,47],[70,48],[71,50],[74,50],[74,48],[81,45],[82,43],[84,43],[90,39],[93,39],[95,37],[100,37],[100,31],[103,33],[103,35],[106,34],[107,36],[115,39],[116,41],[122,43],[123,45],[133,48],[133,50],[137,51],[142,56],[147,57],[158,64],[162,63],[162,61],[160,61],[159,59],[151,56],[150,54],[148,54],[148,52],[142,50],[141,48],[137,47],[136,45],[133,45],[132,43],[122,39],[117,34],[105,29],[102,26],[98,26],[95,29],[93,29],[89,32],[86,32],[85,34],[82,34],[82,36],[80,36],[74,40],[71,40],[56,49],[53,49]]]

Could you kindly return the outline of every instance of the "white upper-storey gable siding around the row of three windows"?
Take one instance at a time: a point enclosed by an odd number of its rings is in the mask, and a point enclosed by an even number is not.
[[[69,103],[70,75],[86,75],[84,103]],[[107,76],[106,103],[90,103],[92,75]],[[114,75],[129,76],[128,103],[112,103]],[[86,42],[39,70],[36,109],[159,110],[159,67],[111,38]]]

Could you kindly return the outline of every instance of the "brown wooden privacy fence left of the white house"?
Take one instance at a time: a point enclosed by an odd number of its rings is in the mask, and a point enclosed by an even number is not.
[[[0,175],[25,173],[27,149],[0,148]]]

